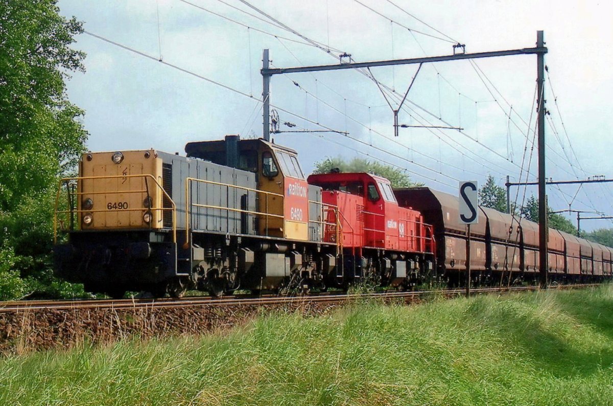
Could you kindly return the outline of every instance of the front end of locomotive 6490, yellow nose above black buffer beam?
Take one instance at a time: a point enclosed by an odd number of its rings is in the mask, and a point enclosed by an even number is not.
[[[121,297],[155,291],[176,273],[176,208],[154,150],[86,153],[78,177],[61,180],[54,251],[60,277]],[[58,243],[58,231],[67,241]],[[64,234],[62,234],[64,235]]]

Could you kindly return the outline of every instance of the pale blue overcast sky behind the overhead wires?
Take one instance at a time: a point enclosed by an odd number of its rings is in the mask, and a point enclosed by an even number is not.
[[[183,153],[192,140],[221,139],[226,134],[261,136],[263,48],[270,49],[275,67],[332,64],[338,63],[341,51],[355,61],[375,61],[449,55],[454,42],[465,44],[470,53],[534,47],[536,31],[542,29],[549,48],[547,177],[613,177],[609,134],[613,29],[608,2],[253,0],[249,4],[331,51],[270,24],[239,0],[60,0],[61,12],[83,21],[86,31],[154,58],[87,34],[78,37],[77,48],[88,54],[87,72],[74,74],[68,93],[86,111],[88,148],[153,147]],[[371,69],[379,82],[395,90],[396,98],[390,99],[395,109],[416,69],[416,65]],[[321,123],[349,134],[283,133],[274,139],[299,152],[305,172],[326,156],[360,156],[402,167],[414,180],[454,194],[458,180],[483,182],[487,174],[500,185],[506,175],[517,180],[521,173],[522,180],[526,175],[535,180],[536,148],[530,154],[535,86],[534,55],[479,59],[476,65],[470,61],[424,65],[406,109],[398,115],[399,123],[463,130],[402,128],[395,138],[392,110],[375,82],[360,72],[277,75],[271,102],[278,106],[281,123],[322,130],[317,124]],[[581,190],[549,186],[549,205],[560,210],[571,203],[573,210],[613,215],[612,191],[606,183]],[[517,188],[512,188],[512,200],[516,193]],[[536,193],[533,186],[526,197],[531,193]],[[519,190],[519,202],[522,196],[524,188]],[[569,218],[576,223],[576,215]],[[611,222],[586,220],[581,225],[590,230],[611,227]]]

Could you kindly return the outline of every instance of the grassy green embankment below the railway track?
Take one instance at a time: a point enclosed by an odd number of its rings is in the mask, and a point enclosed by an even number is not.
[[[613,286],[0,360],[0,404],[613,404]]]

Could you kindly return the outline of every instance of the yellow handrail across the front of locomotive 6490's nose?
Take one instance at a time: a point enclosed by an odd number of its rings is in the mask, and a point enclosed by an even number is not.
[[[159,190],[162,191],[162,193],[164,194],[164,196],[166,197],[166,199],[168,199],[168,201],[170,202],[172,207],[143,207],[142,209],[123,209],[121,211],[123,212],[138,212],[138,211],[143,211],[143,212],[153,212],[155,210],[161,210],[162,212],[164,212],[164,210],[171,210],[172,212],[172,242],[177,242],[177,205],[175,205],[175,202],[172,200],[172,198],[170,197],[170,195],[167,193],[166,190],[164,190],[164,187],[162,185],[159,184],[158,180],[151,174],[135,174],[135,175],[104,175],[104,176],[77,176],[77,177],[67,177],[67,178],[61,178],[58,181],[58,191],[56,193],[55,196],[55,209],[53,210],[53,243],[57,243],[58,242],[58,213],[101,213],[101,212],[107,212],[107,210],[77,210],[77,209],[72,209],[72,206],[69,208],[69,210],[58,210],[58,205],[59,205],[59,194],[61,193],[62,190],[62,185],[64,183],[68,183],[70,181],[77,181],[81,182],[83,180],[96,180],[96,179],[124,179],[124,178],[151,178],[151,180],[153,180],[153,182],[158,186]],[[113,194],[113,193],[126,193],[126,194],[130,194],[130,193],[145,193],[146,191],[134,191],[134,190],[126,190],[126,191],[109,191],[107,194]],[[81,192],[77,192],[76,194],[83,194]],[[89,193],[88,193],[89,194]],[[103,192],[94,192],[92,194],[104,194]]]

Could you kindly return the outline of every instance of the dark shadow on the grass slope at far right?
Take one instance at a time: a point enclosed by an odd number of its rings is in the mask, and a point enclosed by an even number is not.
[[[485,304],[485,303],[482,303]],[[594,300],[592,311],[579,312],[577,302],[569,302],[565,306],[558,305],[558,310],[576,317],[583,324],[592,326],[598,332],[605,332],[613,338],[613,303],[611,301]],[[596,311],[598,309],[598,311]],[[603,318],[601,313],[607,309],[609,314]],[[504,347],[519,351],[519,356],[525,356],[533,361],[536,369],[546,371],[557,378],[588,377],[602,372],[613,363],[613,351],[593,351],[577,348],[568,341],[564,334],[556,334],[557,322],[545,326],[534,313],[522,312],[513,307],[497,307],[493,311],[485,311],[479,302],[473,302],[467,318],[476,323],[482,323],[493,331]],[[563,327],[561,327],[563,328]],[[566,337],[566,338],[565,338]]]

